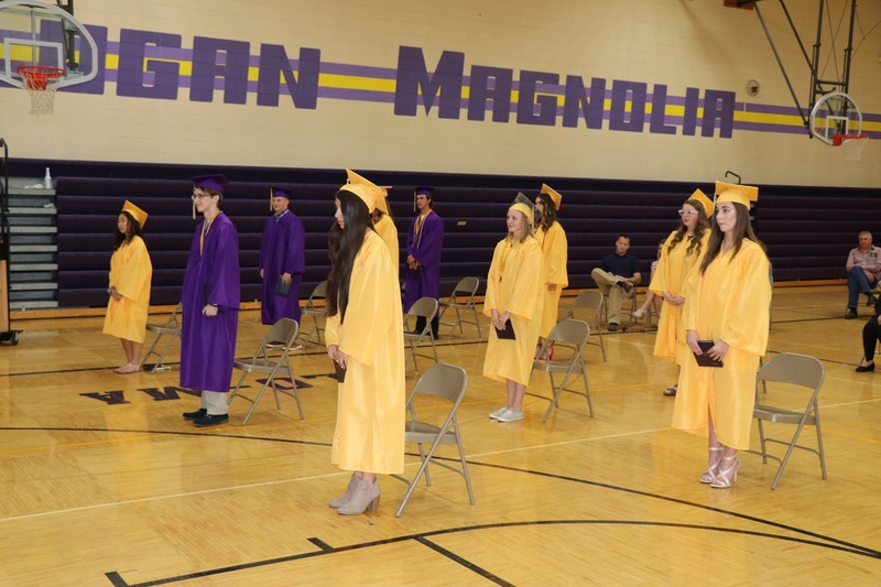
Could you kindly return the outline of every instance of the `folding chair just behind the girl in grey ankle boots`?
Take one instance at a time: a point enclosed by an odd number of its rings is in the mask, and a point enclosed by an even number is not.
[[[461,475],[465,479],[465,487],[468,489],[468,501],[471,506],[475,504],[471,478],[468,476],[468,461],[465,459],[465,448],[463,447],[461,435],[459,434],[459,423],[456,420],[456,411],[459,409],[463,398],[465,398],[465,390],[467,387],[468,374],[465,372],[465,369],[445,362],[433,365],[426,369],[420,380],[416,381],[416,385],[413,388],[413,392],[406,401],[406,406],[410,411],[410,420],[407,420],[405,424],[404,442],[418,445],[420,459],[422,463],[412,481],[400,475],[392,476],[409,485],[404,499],[398,508],[398,517],[404,511],[404,506],[406,506],[410,496],[413,493],[416,483],[418,483],[423,475],[425,476],[425,485],[431,487],[432,478],[428,472],[429,463]],[[421,396],[422,399],[433,398],[449,403],[449,411],[446,413],[440,425],[422,421],[416,416],[414,400]],[[435,405],[436,404],[437,402],[435,402]],[[443,463],[443,460],[440,460],[442,457],[435,456],[435,450],[437,450],[437,447],[442,444],[456,445],[459,449],[460,468]],[[427,452],[424,445],[431,445]]]

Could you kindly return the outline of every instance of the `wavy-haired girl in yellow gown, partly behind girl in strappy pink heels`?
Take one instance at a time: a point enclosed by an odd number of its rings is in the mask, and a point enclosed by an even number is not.
[[[685,303],[685,278],[707,250],[709,221],[713,203],[700,189],[679,208],[679,227],[670,233],[661,251],[657,270],[649,285],[649,291],[663,300],[661,316],[657,319],[657,336],[654,339],[654,354],[662,359],[682,365],[693,361],[692,351],[679,339],[679,316]],[[635,313],[634,313],[635,315]],[[676,385],[664,390],[664,395],[676,395]]]

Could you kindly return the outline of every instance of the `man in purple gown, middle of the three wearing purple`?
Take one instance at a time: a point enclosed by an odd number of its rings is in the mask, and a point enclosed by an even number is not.
[[[287,209],[291,196],[281,187],[271,188],[272,216],[260,238],[260,279],[263,280],[263,324],[282,318],[300,322],[300,280],[306,271],[306,235],[303,222]],[[279,282],[289,287],[279,293]]]

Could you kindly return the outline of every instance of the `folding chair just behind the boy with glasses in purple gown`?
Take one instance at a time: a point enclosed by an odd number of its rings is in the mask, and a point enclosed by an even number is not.
[[[239,369],[242,373],[239,378],[239,382],[236,383],[236,389],[233,389],[232,393],[229,394],[227,404],[232,403],[232,400],[235,400],[236,396],[251,402],[251,409],[248,410],[248,414],[246,414],[244,420],[242,420],[242,425],[248,423],[248,420],[251,417],[251,414],[257,407],[260,398],[263,396],[263,392],[267,391],[269,385],[272,385],[272,392],[275,395],[275,407],[278,410],[282,409],[282,404],[279,401],[279,392],[286,393],[296,400],[296,409],[300,411],[300,420],[303,420],[303,406],[300,403],[300,394],[296,391],[296,380],[294,379],[294,370],[291,367],[290,357],[298,331],[300,325],[297,325],[296,320],[291,318],[282,318],[273,324],[272,327],[270,327],[267,336],[263,337],[263,340],[260,341],[260,346],[257,347],[257,351],[254,352],[253,357],[247,360],[232,361],[232,368]],[[278,357],[270,357],[270,349],[281,349],[281,355]],[[244,378],[248,377],[248,373],[263,373],[269,376],[253,400],[246,398],[244,395],[239,395],[239,389],[244,382]],[[289,377],[291,379],[292,387],[290,391],[285,389],[279,389],[279,387],[275,384],[275,379],[279,377]]]

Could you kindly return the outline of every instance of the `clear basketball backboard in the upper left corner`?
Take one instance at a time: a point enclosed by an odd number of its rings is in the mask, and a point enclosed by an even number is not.
[[[88,63],[79,63],[83,55]],[[84,84],[98,75],[98,46],[85,25],[58,6],[0,1],[0,81],[25,87],[19,67],[30,65],[64,69],[56,89]]]

